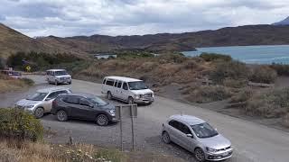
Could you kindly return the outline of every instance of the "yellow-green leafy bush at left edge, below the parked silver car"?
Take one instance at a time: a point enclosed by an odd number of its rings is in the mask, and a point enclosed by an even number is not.
[[[0,109],[0,136],[36,141],[42,139],[42,123],[27,112],[18,109]]]

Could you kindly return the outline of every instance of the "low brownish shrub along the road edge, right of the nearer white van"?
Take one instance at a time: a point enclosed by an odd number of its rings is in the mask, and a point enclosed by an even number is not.
[[[229,98],[232,92],[222,85],[200,85],[183,91],[187,100],[195,103],[210,103]]]

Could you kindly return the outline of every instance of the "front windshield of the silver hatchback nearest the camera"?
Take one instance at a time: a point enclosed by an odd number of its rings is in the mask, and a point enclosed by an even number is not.
[[[218,131],[213,129],[207,122],[191,125],[191,128],[200,139],[214,137],[219,134]]]

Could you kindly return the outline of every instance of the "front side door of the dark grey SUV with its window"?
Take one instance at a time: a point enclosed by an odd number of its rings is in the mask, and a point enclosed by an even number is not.
[[[88,99],[84,97],[80,97],[79,106],[75,107],[73,109],[73,112],[77,113],[80,119],[95,120],[96,114],[95,114],[95,109],[92,105],[93,104],[90,103]]]

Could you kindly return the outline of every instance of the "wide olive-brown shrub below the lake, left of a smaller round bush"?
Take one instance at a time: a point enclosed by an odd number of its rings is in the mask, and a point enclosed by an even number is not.
[[[225,78],[233,80],[247,80],[246,64],[239,61],[218,61],[214,70],[210,72],[210,79],[216,83],[223,83]]]

